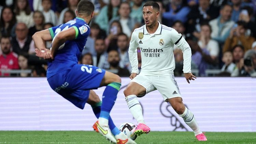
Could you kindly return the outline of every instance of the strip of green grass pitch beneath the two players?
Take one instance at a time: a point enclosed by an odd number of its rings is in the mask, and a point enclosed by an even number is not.
[[[206,132],[199,142],[193,132],[152,131],[135,140],[138,144],[255,144],[256,132]],[[0,131],[0,144],[109,144],[95,131]]]

